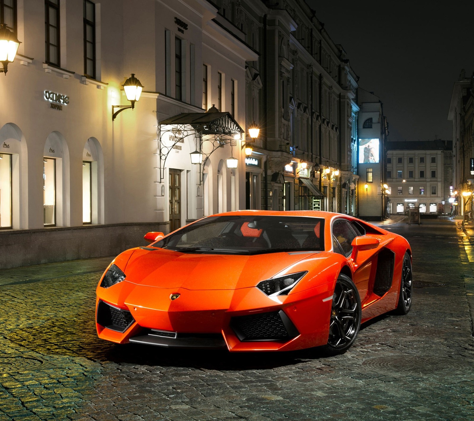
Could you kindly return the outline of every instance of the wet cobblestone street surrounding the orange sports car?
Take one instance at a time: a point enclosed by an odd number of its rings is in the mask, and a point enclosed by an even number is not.
[[[447,219],[383,227],[413,250],[411,312],[331,358],[113,345],[94,323],[111,258],[1,269],[0,420],[474,419],[471,237]]]

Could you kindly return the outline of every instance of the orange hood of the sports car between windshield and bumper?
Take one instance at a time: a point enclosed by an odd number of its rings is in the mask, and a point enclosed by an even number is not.
[[[126,281],[143,286],[190,290],[237,289],[255,287],[258,282],[273,278],[280,272],[298,272],[301,266],[293,271],[292,265],[313,254],[311,251],[243,256],[137,248],[124,272]]]

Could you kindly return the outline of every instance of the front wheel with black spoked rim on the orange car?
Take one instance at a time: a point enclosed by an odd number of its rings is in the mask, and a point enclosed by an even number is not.
[[[359,292],[354,282],[340,274],[334,287],[329,321],[327,345],[322,347],[326,355],[343,354],[356,340],[362,320]]]

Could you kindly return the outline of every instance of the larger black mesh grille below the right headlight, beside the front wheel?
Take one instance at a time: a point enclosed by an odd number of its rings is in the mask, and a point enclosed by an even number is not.
[[[233,317],[231,327],[240,340],[289,340],[298,333],[283,311]]]

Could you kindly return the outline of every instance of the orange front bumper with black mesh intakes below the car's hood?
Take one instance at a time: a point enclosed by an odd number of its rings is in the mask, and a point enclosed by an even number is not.
[[[101,339],[229,351],[294,350],[328,341],[330,284],[277,297],[255,287],[190,291],[123,284],[98,288],[96,326]],[[181,296],[171,301],[172,294]],[[121,296],[127,298],[119,303]],[[111,320],[109,313],[116,318]]]

